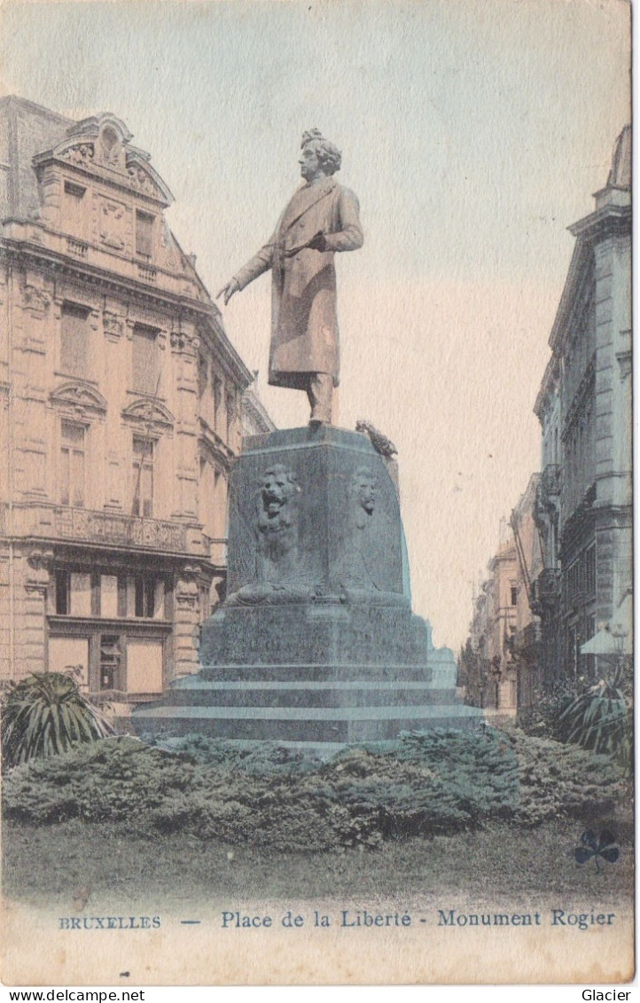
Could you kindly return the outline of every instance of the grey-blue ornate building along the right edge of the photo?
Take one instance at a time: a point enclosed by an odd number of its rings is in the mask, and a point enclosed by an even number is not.
[[[616,140],[576,246],[536,401],[543,430],[534,582],[545,679],[593,674],[581,653],[628,596],[632,571],[631,127]],[[631,624],[627,625],[630,635]]]

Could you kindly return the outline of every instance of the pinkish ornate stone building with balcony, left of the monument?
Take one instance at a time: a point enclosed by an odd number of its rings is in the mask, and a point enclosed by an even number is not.
[[[198,667],[253,376],[122,121],[0,124],[0,674],[149,699]]]

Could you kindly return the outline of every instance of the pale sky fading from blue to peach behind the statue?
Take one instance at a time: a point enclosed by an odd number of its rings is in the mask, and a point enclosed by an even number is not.
[[[0,89],[111,111],[176,202],[212,295],[300,183],[305,129],[343,152],[365,243],[339,255],[337,424],[398,448],[413,608],[457,650],[503,517],[540,466],[533,406],[574,238],[630,117],[625,0],[236,0],[0,6]],[[223,308],[267,385],[263,276]]]

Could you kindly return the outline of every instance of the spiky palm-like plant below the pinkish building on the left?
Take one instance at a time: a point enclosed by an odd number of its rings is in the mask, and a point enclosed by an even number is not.
[[[33,672],[11,685],[2,700],[2,758],[8,767],[66,752],[111,731],[73,679],[59,672]]]

